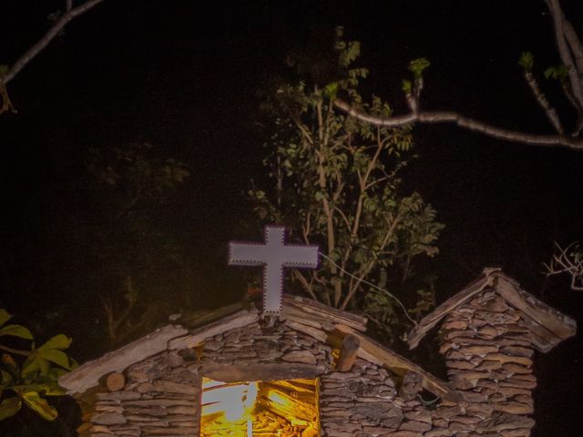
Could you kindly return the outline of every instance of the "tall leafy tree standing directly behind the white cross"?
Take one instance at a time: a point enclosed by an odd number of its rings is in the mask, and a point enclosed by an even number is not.
[[[373,127],[334,112],[332,99],[343,94],[369,113],[391,114],[378,97],[363,103],[358,86],[368,71],[352,66],[360,45],[342,37],[338,28],[337,80],[283,83],[268,97],[264,108],[274,131],[264,165],[274,187],[252,188],[249,195],[261,221],[285,224],[292,239],[325,252],[320,269],[292,269],[295,286],[342,310],[387,313],[394,300],[374,298],[365,282],[389,287],[408,279],[416,257],[437,253],[443,226],[419,193],[404,193],[409,129]],[[301,57],[288,59],[290,66],[303,64]],[[411,68],[420,75],[428,65],[422,59]]]

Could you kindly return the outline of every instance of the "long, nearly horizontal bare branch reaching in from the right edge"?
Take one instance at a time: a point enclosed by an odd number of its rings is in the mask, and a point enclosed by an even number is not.
[[[523,143],[530,146],[568,147],[573,150],[583,150],[583,139],[580,138],[560,135],[528,134],[526,132],[488,125],[482,121],[464,117],[456,112],[420,111],[400,117],[377,117],[351,107],[340,98],[334,100],[334,106],[348,115],[374,126],[404,127],[414,125],[417,122],[426,124],[454,123],[459,127],[479,132],[487,137],[503,139],[510,142]]]

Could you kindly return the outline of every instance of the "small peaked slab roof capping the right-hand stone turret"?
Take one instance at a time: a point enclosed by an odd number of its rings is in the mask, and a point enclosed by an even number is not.
[[[506,300],[506,303],[522,311],[532,334],[533,345],[538,351],[550,351],[561,341],[575,335],[577,331],[575,320],[522,290],[520,284],[515,279],[506,276],[501,269],[484,269],[480,278],[467,285],[455,296],[445,300],[409,332],[407,336],[409,348],[414,349],[425,334],[447,314],[486,289],[495,290]]]

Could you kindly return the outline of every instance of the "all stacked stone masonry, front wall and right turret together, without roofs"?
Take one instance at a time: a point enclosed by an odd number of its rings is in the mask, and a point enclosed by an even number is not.
[[[285,323],[265,333],[255,322],[206,339],[199,358],[163,351],[131,365],[121,391],[87,391],[79,399],[78,433],[199,436],[201,378],[208,372],[233,364],[302,363],[319,370],[322,436],[528,437],[536,379],[520,311],[484,290],[447,315],[441,336],[457,404],[424,406],[419,397],[399,394],[394,374],[361,358],[351,371],[335,371],[330,345]]]

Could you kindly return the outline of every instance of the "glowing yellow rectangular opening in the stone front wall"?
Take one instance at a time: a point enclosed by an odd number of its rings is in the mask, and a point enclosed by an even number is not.
[[[316,437],[318,380],[202,380],[201,437]]]

